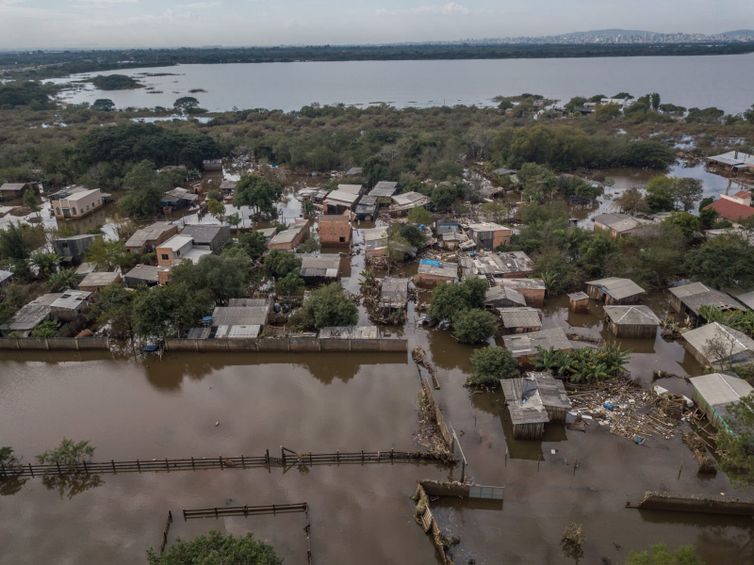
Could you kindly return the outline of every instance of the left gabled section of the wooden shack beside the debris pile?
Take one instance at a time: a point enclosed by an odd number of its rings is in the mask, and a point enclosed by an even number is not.
[[[501,379],[515,439],[541,439],[550,421],[533,378]]]

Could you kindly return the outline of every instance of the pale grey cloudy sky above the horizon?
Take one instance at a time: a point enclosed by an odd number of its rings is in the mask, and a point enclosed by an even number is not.
[[[754,28],[754,0],[0,0],[0,49],[382,43]]]

